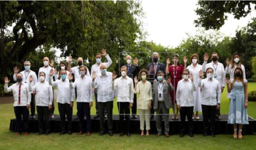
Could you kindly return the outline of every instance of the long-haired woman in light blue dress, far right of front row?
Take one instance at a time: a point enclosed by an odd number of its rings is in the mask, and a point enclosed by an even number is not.
[[[231,92],[229,105],[228,123],[234,125],[234,138],[242,138],[242,126],[248,123],[247,106],[248,106],[248,84],[243,77],[241,67],[234,70],[234,79],[226,79],[228,92]],[[237,136],[237,124],[239,127]]]

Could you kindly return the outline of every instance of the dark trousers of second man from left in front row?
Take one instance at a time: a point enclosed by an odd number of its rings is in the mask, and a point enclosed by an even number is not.
[[[49,107],[36,106],[40,133],[50,133]],[[44,119],[44,120],[43,120]]]

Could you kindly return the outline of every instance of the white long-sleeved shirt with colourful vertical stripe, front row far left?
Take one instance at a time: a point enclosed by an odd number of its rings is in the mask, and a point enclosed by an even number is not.
[[[12,86],[8,87],[8,84],[4,85],[4,92],[12,92],[14,103],[13,107],[15,106],[27,106],[27,104],[30,105],[31,102],[31,93],[28,88],[28,84],[22,82],[21,83],[21,89],[20,89],[20,104],[19,104],[19,86],[20,84],[15,83],[12,84]]]

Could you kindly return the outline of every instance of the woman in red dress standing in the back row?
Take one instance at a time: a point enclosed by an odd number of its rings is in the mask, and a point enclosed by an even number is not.
[[[187,66],[187,57],[185,56],[183,58],[184,60],[184,66],[186,68]],[[182,64],[179,64],[179,56],[178,55],[173,55],[172,56],[172,62],[173,64],[170,66],[170,59],[167,58],[166,60],[166,74],[169,74],[171,76],[171,84],[172,86],[174,86],[174,91],[170,91],[170,95],[171,95],[171,100],[172,100],[172,110],[174,115],[172,116],[172,119],[179,119],[178,114],[179,114],[179,110],[177,109],[177,106],[175,107],[175,95],[176,95],[176,90],[177,90],[177,85],[179,80],[182,79],[182,74],[183,74],[183,70],[184,67],[182,66]],[[175,102],[175,103],[174,103]],[[176,114],[175,114],[175,110],[176,110]]]

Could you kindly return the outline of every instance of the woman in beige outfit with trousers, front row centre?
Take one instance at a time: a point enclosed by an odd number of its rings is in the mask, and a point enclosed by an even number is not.
[[[153,100],[152,97],[152,87],[151,83],[147,81],[148,71],[146,69],[142,69],[139,72],[139,77],[141,79],[138,82],[137,77],[135,76],[135,89],[134,93],[139,94],[139,98],[137,99],[137,108],[139,109],[139,116],[140,116],[140,130],[141,136],[144,135],[144,125],[146,121],[146,130],[147,130],[147,137],[149,136],[150,130],[150,108],[151,103]]]

